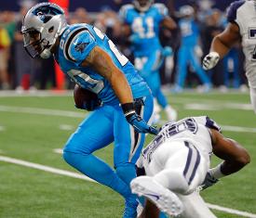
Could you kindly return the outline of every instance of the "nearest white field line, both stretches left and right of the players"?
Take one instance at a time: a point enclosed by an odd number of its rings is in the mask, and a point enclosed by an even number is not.
[[[49,173],[56,173],[56,174],[66,175],[66,176],[70,176],[70,177],[73,177],[73,178],[83,179],[83,180],[87,180],[89,182],[97,183],[96,181],[88,178],[85,175],[79,174],[79,173],[64,171],[64,170],[60,170],[60,169],[57,169],[57,168],[48,167],[48,166],[45,166],[45,165],[41,165],[41,164],[38,164],[38,163],[33,163],[33,162],[25,161],[25,160],[18,160],[18,159],[8,158],[8,157],[5,157],[5,156],[0,156],[0,161],[10,162],[10,163],[18,164],[18,165],[21,165],[21,166],[31,167],[31,168],[34,168],[34,169],[37,169],[37,170],[49,172]],[[240,212],[240,211],[237,211],[237,210],[234,210],[234,209],[224,208],[222,206],[218,206],[218,205],[215,205],[215,204],[207,203],[207,205],[209,206],[210,209],[218,210],[218,211],[221,211],[221,212],[228,212],[228,213],[233,213],[233,214],[236,214],[236,215],[241,215],[241,216],[244,216],[244,217],[256,218],[256,214],[253,214],[253,213]]]

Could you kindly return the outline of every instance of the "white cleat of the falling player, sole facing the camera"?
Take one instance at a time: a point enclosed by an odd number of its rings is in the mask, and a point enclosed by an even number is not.
[[[139,176],[130,183],[131,191],[138,196],[150,199],[161,212],[178,216],[183,212],[182,201],[168,188],[161,186],[152,177]]]

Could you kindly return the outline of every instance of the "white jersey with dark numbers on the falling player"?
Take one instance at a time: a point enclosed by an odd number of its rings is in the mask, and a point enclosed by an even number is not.
[[[210,156],[212,154],[212,141],[209,128],[221,132],[218,124],[207,116],[188,117],[178,122],[168,122],[163,125],[155,139],[141,151],[141,160],[138,166],[151,162],[152,154],[158,147],[165,142],[182,141],[194,145],[202,155]],[[143,162],[143,163],[142,163]]]

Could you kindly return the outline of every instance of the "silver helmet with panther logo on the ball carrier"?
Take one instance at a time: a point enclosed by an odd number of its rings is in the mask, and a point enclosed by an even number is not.
[[[67,21],[60,6],[41,3],[33,6],[22,23],[24,47],[32,57],[49,58],[50,49],[65,30]]]

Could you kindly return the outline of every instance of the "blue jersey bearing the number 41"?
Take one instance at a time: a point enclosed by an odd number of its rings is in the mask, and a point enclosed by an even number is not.
[[[135,56],[146,56],[161,48],[159,25],[168,16],[165,5],[154,4],[147,11],[140,12],[129,4],[121,7],[119,16],[130,26],[132,35],[138,39],[133,43]]]

